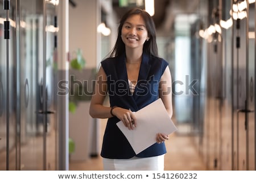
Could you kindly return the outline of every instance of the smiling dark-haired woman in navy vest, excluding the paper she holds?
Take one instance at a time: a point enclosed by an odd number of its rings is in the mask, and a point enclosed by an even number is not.
[[[167,61],[158,57],[154,21],[144,10],[129,10],[121,18],[113,51],[101,62],[90,104],[93,118],[109,118],[101,150],[105,170],[164,169],[167,134],[156,134],[156,143],[136,155],[116,123],[133,130],[138,125],[133,111],[159,97],[171,118],[171,82]],[[107,93],[110,107],[103,105]]]

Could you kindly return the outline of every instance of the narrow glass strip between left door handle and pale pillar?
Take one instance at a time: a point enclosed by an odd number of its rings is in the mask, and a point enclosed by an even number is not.
[[[57,1],[46,1],[46,169],[56,170],[57,164]]]

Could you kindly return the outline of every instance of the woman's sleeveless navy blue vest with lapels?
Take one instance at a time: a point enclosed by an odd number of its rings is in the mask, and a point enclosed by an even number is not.
[[[108,79],[110,106],[137,111],[159,98],[159,81],[168,63],[159,57],[143,54],[138,82],[133,94],[129,89],[125,55],[105,59],[101,65]],[[164,143],[155,143],[136,155],[125,135],[117,127],[118,121],[117,117],[108,119],[102,143],[102,157],[109,159],[129,159],[133,156],[146,158],[166,153]]]

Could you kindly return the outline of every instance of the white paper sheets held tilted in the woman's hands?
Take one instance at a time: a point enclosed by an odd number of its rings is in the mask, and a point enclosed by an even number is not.
[[[160,98],[134,112],[134,114],[137,119],[137,126],[133,130],[125,127],[122,121],[119,121],[117,126],[136,154],[156,143],[156,134],[169,135],[177,130]]]

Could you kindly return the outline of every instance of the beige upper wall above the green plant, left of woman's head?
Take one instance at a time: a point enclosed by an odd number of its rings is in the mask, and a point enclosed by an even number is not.
[[[97,59],[101,57],[97,49],[100,41],[100,35],[97,33],[101,17],[100,3],[98,0],[75,2],[76,7],[69,5],[69,53],[72,59],[80,48],[86,68],[96,68]]]

